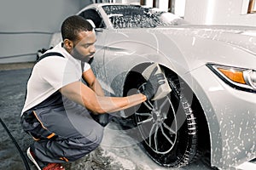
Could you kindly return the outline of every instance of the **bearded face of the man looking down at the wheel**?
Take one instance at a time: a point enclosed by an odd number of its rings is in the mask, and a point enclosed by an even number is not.
[[[95,31],[81,31],[79,32],[78,40],[73,42],[73,50],[71,54],[73,58],[79,59],[84,62],[88,62],[93,58],[96,48],[94,43],[96,42]]]

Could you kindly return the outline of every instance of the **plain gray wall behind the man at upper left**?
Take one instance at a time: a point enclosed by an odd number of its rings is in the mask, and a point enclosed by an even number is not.
[[[62,20],[76,14],[82,0],[0,0],[0,63],[34,61],[49,48],[51,34]]]

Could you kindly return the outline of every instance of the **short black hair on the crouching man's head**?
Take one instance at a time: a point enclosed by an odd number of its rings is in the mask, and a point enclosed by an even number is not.
[[[90,22],[83,17],[79,15],[69,16],[61,25],[62,40],[64,41],[64,39],[67,38],[71,41],[75,41],[80,31],[92,30],[93,26],[91,26]]]

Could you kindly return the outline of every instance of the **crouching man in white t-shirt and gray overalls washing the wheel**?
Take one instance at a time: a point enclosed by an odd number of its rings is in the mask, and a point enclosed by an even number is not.
[[[44,170],[64,169],[61,162],[76,161],[101,143],[103,127],[91,113],[121,111],[152,99],[164,79],[154,71],[142,94],[106,97],[89,64],[96,52],[93,26],[74,15],[62,23],[61,36],[63,42],[34,66],[21,113],[22,127],[35,139],[27,156]]]

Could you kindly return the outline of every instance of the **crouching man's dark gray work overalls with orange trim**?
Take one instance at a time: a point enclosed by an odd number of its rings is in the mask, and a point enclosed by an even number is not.
[[[103,127],[90,114],[57,91],[25,111],[21,125],[35,139],[31,149],[41,161],[76,161],[102,141]]]

